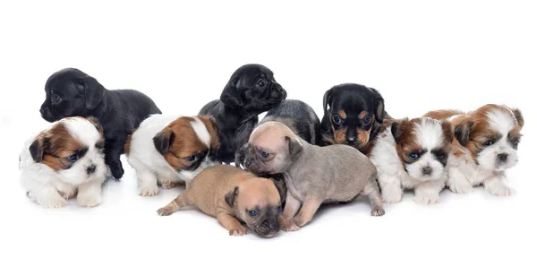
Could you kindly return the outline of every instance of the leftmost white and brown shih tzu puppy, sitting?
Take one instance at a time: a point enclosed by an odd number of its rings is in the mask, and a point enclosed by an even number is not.
[[[67,117],[25,143],[20,155],[21,185],[44,208],[67,206],[76,196],[84,207],[101,202],[101,186],[110,176],[98,120]]]

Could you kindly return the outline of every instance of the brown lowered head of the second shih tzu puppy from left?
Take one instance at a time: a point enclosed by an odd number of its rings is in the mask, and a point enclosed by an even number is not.
[[[179,172],[205,168],[219,148],[218,128],[210,116],[182,116],[153,137],[155,148]]]

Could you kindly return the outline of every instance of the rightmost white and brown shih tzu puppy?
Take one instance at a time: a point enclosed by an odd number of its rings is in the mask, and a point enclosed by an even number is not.
[[[520,110],[489,104],[473,112],[432,111],[425,116],[447,119],[456,141],[447,160],[447,186],[454,193],[470,193],[484,185],[494,195],[508,196],[515,191],[505,176],[518,162],[518,142],[524,118]]]

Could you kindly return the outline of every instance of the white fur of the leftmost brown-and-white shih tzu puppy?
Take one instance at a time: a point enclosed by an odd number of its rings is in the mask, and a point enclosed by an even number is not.
[[[36,135],[24,143],[21,150],[21,185],[31,200],[44,208],[60,208],[68,203],[66,199],[77,196],[81,206],[93,207],[101,202],[101,186],[109,173],[105,165],[104,154],[95,148],[100,139],[95,125],[81,117],[64,118],[62,123],[73,138],[79,140],[89,149],[71,168],[54,171],[43,163],[36,163],[30,154],[30,145]],[[47,128],[48,129],[50,129]],[[88,175],[86,168],[95,165],[95,172]]]

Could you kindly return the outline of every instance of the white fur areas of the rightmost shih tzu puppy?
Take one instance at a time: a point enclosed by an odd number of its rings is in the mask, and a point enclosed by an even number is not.
[[[473,192],[473,186],[484,185],[489,193],[499,196],[508,196],[515,191],[509,187],[505,170],[512,168],[518,162],[517,151],[507,142],[507,133],[517,125],[516,118],[510,110],[492,109],[487,113],[490,129],[501,133],[498,142],[485,147],[478,155],[477,165],[472,159],[470,150],[460,147],[464,153],[461,157],[450,155],[447,159],[447,186],[454,193]],[[499,153],[508,155],[507,162],[499,164]]]

